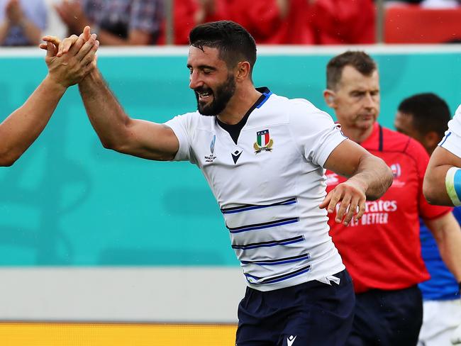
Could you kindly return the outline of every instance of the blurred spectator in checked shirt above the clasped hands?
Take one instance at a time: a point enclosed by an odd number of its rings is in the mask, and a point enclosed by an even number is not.
[[[157,43],[163,18],[163,0],[63,0],[55,5],[69,34],[84,26],[104,45]]]

